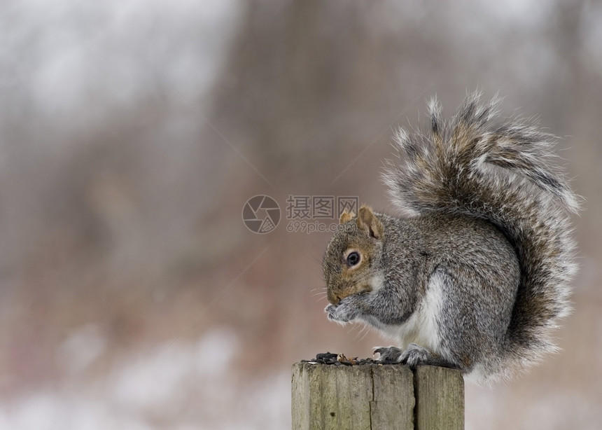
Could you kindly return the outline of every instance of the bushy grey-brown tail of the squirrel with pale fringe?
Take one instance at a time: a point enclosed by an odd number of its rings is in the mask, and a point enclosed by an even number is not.
[[[500,358],[522,369],[556,349],[550,331],[570,310],[568,282],[576,266],[568,212],[579,204],[550,164],[554,138],[525,120],[494,125],[498,99],[479,99],[479,93],[468,96],[449,122],[431,101],[428,132],[398,132],[395,146],[406,161],[387,162],[384,181],[394,204],[409,214],[477,216],[512,242],[521,286]]]

